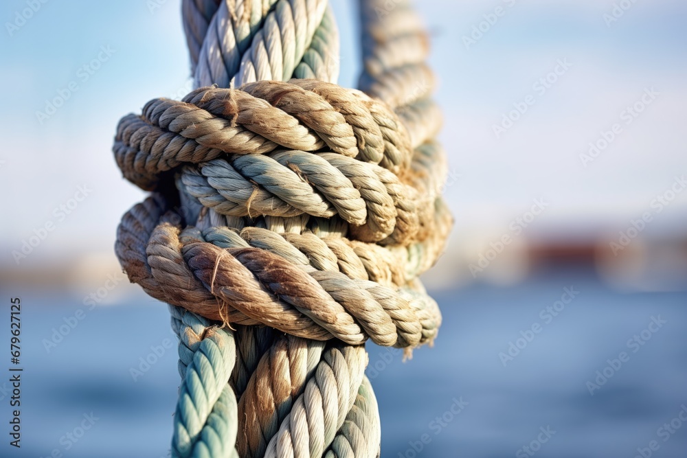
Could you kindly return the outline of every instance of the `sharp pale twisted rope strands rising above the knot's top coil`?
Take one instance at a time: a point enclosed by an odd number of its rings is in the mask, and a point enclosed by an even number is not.
[[[186,36],[191,37],[192,62],[196,63],[193,56],[198,54],[196,86],[238,87],[258,80],[287,80],[304,59],[320,25],[326,30],[317,35],[312,52],[338,56],[333,18],[330,16],[322,24],[326,8],[326,0],[223,1],[203,27],[201,9],[185,6],[185,22],[199,23],[196,27],[185,26]],[[202,47],[196,51],[204,28],[207,32]],[[328,50],[327,45],[332,48]],[[312,65],[312,59],[309,57],[305,65]],[[333,70],[326,71],[327,80],[336,80]]]

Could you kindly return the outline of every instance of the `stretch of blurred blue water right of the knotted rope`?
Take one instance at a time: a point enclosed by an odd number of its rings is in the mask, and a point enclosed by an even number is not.
[[[547,324],[540,310],[571,286],[579,295]],[[654,456],[687,456],[687,431],[675,431],[667,442],[657,437],[657,428],[687,404],[684,293],[619,295],[594,277],[563,272],[513,288],[474,286],[436,299],[444,323],[435,347],[416,351],[405,364],[396,354],[373,381],[383,456],[412,457],[409,441],[423,433],[431,437],[424,457],[529,456],[516,454],[537,439],[541,426],[556,433],[537,457],[634,457],[651,440],[660,445]],[[667,323],[634,353],[639,344],[628,348],[627,341],[659,315]],[[499,352],[533,323],[541,332],[504,367]],[[594,382],[596,371],[620,352],[629,360],[591,396],[587,381]],[[383,366],[382,355],[372,350],[373,368]],[[440,433],[436,423],[431,428],[461,396],[469,402],[464,410]]]

